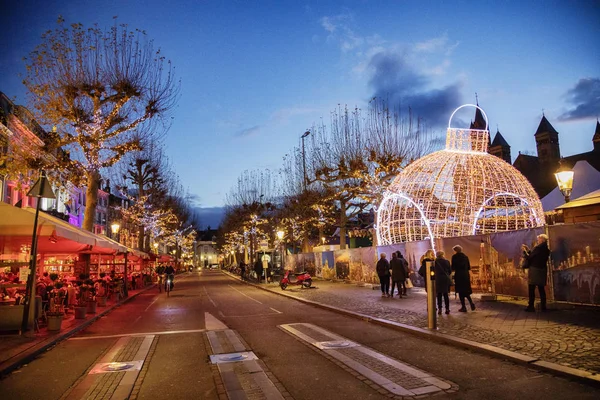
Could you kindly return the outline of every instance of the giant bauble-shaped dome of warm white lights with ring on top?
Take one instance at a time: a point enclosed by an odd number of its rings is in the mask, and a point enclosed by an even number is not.
[[[476,107],[485,129],[451,128],[463,107]],[[413,162],[387,188],[377,212],[380,245],[512,231],[544,225],[527,179],[487,153],[485,112],[473,104],[450,116],[446,148]]]

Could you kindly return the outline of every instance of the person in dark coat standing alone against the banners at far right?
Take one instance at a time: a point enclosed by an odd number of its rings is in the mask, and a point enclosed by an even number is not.
[[[550,257],[550,249],[548,248],[548,236],[541,234],[537,237],[537,246],[527,256],[525,268],[529,269],[529,305],[525,309],[527,312],[535,311],[535,287],[537,286],[540,293],[540,305],[542,311],[546,311],[546,277],[548,276],[548,257]]]

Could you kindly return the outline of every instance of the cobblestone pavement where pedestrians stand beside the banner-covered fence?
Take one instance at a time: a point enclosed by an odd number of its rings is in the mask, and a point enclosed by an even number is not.
[[[269,284],[272,291],[281,291]],[[409,289],[399,299],[381,297],[369,287],[317,281],[311,289],[292,288],[287,294],[333,307],[427,329],[426,294]],[[483,302],[477,309],[459,313],[460,303],[451,294],[450,315],[438,317],[443,334],[488,344],[564,366],[600,373],[600,310],[570,307],[545,313],[527,313],[525,302]]]

